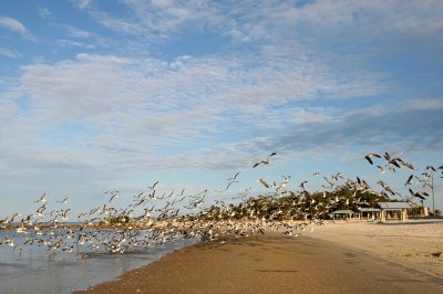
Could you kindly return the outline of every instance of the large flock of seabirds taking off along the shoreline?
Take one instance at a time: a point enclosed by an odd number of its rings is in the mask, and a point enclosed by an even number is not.
[[[251,168],[265,168],[276,156],[277,153],[271,153]],[[410,192],[406,198],[412,202],[426,199],[433,189],[434,176],[443,176],[443,166],[427,166],[420,172],[406,160],[388,153],[369,153],[364,158],[378,167],[380,175],[399,169],[410,171],[404,186]],[[114,206],[121,192],[110,190],[102,206],[76,216],[68,207],[69,197],[50,201],[43,193],[35,199],[33,213],[17,212],[0,218],[0,229],[10,232],[0,239],[0,246],[10,246],[13,253],[22,254],[23,248],[37,245],[48,252],[63,251],[84,260],[91,252],[125,253],[182,238],[224,243],[227,238],[247,238],[268,231],[297,237],[308,224],[321,224],[338,207],[369,204],[368,196],[380,201],[401,197],[381,179],[372,188],[364,179],[347,178],[341,172],[323,176],[321,190],[313,192],[308,189],[309,180],[290,190],[290,176],[281,176],[274,181],[257,179],[257,185],[265,189],[262,193],[253,196],[248,188],[233,197],[228,190],[239,182],[239,177],[238,171],[222,189],[204,189],[197,193],[187,193],[186,189],[161,193],[159,182],[155,181],[145,191],[126,199],[131,201],[123,208]],[[320,177],[320,172],[313,172],[312,177]]]

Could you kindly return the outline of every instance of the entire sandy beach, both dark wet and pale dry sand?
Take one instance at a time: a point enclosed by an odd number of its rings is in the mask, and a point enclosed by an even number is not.
[[[208,242],[86,293],[443,293],[443,222],[337,222]]]

